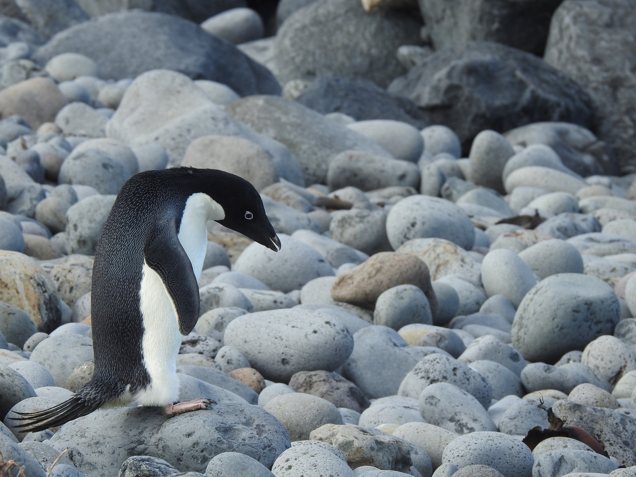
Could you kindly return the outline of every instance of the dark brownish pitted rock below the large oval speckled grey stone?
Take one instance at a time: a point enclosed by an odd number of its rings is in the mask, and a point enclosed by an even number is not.
[[[322,397],[336,408],[362,412],[371,405],[360,388],[336,373],[329,371],[299,371],[289,380],[289,387],[296,392],[304,392]]]

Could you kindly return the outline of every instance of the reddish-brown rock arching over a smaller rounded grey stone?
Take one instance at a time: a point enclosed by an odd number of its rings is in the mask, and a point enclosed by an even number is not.
[[[422,289],[431,304],[433,319],[436,317],[438,303],[429,268],[416,256],[404,253],[380,252],[342,273],[331,286],[331,298],[373,310],[378,296],[398,285]]]

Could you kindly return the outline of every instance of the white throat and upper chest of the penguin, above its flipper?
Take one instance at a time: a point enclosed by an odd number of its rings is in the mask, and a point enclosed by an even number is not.
[[[205,251],[207,250],[206,223],[209,220],[223,218],[225,218],[223,207],[205,193],[194,193],[186,200],[177,238],[190,259],[197,282],[203,269]]]

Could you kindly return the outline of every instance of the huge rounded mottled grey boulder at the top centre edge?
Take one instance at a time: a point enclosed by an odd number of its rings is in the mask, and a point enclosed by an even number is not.
[[[281,83],[334,76],[367,79],[384,88],[405,71],[397,48],[421,43],[419,22],[404,13],[366,13],[360,0],[322,0],[282,24],[275,69]]]

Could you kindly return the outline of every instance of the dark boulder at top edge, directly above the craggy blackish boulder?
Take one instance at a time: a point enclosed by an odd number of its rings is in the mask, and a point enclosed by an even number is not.
[[[563,0],[418,0],[436,50],[495,41],[543,55],[550,18]]]

